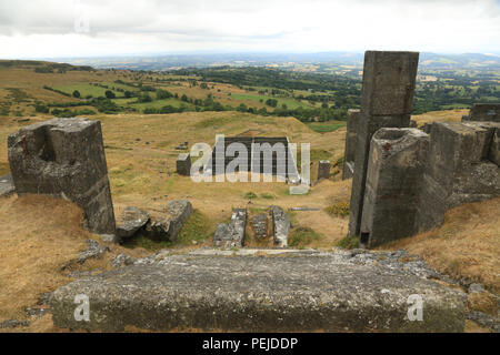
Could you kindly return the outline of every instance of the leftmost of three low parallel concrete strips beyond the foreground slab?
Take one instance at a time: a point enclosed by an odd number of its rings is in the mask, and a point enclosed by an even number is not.
[[[244,230],[247,227],[247,210],[233,209],[230,223],[219,223],[213,234],[213,246],[242,247],[244,244]]]

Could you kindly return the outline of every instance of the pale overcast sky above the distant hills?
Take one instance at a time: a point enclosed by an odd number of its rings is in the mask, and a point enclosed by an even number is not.
[[[368,49],[500,54],[500,0],[0,0],[0,58]]]

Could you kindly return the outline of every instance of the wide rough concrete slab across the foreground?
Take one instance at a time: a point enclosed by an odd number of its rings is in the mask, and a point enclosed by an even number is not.
[[[89,331],[463,332],[463,293],[383,255],[368,256],[168,255],[58,288],[52,318],[58,327]],[[81,294],[89,322],[74,320]],[[422,321],[408,318],[416,297]]]

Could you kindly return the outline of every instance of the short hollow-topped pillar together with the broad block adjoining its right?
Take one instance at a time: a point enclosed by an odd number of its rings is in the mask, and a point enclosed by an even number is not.
[[[440,226],[448,210],[500,196],[496,122],[380,129],[371,140],[360,243],[373,247]]]

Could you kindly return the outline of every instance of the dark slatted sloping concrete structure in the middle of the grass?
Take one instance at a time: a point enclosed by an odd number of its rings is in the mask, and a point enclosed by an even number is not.
[[[237,164],[240,161],[243,163]],[[271,174],[284,180],[298,181],[296,156],[287,136],[224,136],[218,138],[206,173],[234,172]]]

